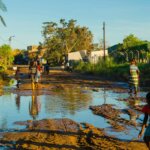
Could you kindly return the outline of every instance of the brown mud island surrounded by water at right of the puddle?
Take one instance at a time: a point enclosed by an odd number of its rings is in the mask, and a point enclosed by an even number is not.
[[[137,113],[133,109],[116,109],[111,104],[90,106],[90,109],[93,111],[94,114],[100,115],[108,119],[109,124],[117,132],[122,132],[126,130],[127,126],[140,126],[140,124],[136,123],[136,118],[139,117],[140,112]],[[121,117],[121,114],[129,115],[130,120]]]

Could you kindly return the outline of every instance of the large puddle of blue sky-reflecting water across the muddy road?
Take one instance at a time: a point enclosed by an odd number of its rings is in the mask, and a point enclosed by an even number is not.
[[[123,132],[115,132],[108,120],[94,115],[89,106],[113,104],[117,109],[128,108],[128,103],[118,99],[128,98],[127,93],[118,93],[105,88],[92,89],[88,87],[69,86],[55,89],[49,95],[40,95],[38,90],[31,96],[22,96],[7,92],[0,96],[0,132],[24,129],[25,126],[15,124],[17,121],[40,120],[44,118],[70,118],[77,122],[87,122],[96,127],[105,128],[106,133],[120,139],[136,138],[139,127],[128,127]],[[146,93],[141,92],[140,96]],[[138,104],[142,102],[138,101]],[[128,115],[123,118],[130,120]],[[136,122],[142,122],[142,115]]]

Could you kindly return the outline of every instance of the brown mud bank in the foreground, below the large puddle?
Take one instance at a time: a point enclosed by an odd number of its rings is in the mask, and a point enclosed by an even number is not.
[[[91,150],[146,150],[143,142],[128,141],[107,136],[102,129],[79,124],[70,119],[45,119],[18,122],[27,129],[4,133],[0,143],[15,149],[91,149]]]

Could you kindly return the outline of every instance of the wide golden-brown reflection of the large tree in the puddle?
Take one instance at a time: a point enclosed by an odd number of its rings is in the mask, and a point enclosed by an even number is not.
[[[62,85],[61,85],[62,86]],[[57,90],[55,96],[47,97],[46,99],[46,112],[75,114],[75,112],[89,107],[92,102],[90,91],[85,90],[83,87],[76,85],[64,85],[61,90]]]

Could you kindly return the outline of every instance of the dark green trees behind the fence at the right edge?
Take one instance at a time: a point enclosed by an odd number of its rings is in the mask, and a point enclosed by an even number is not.
[[[146,61],[150,52],[150,43],[130,34],[123,39],[123,43],[114,45],[108,50],[110,55],[119,62],[126,62],[132,58],[136,58],[138,61]]]

